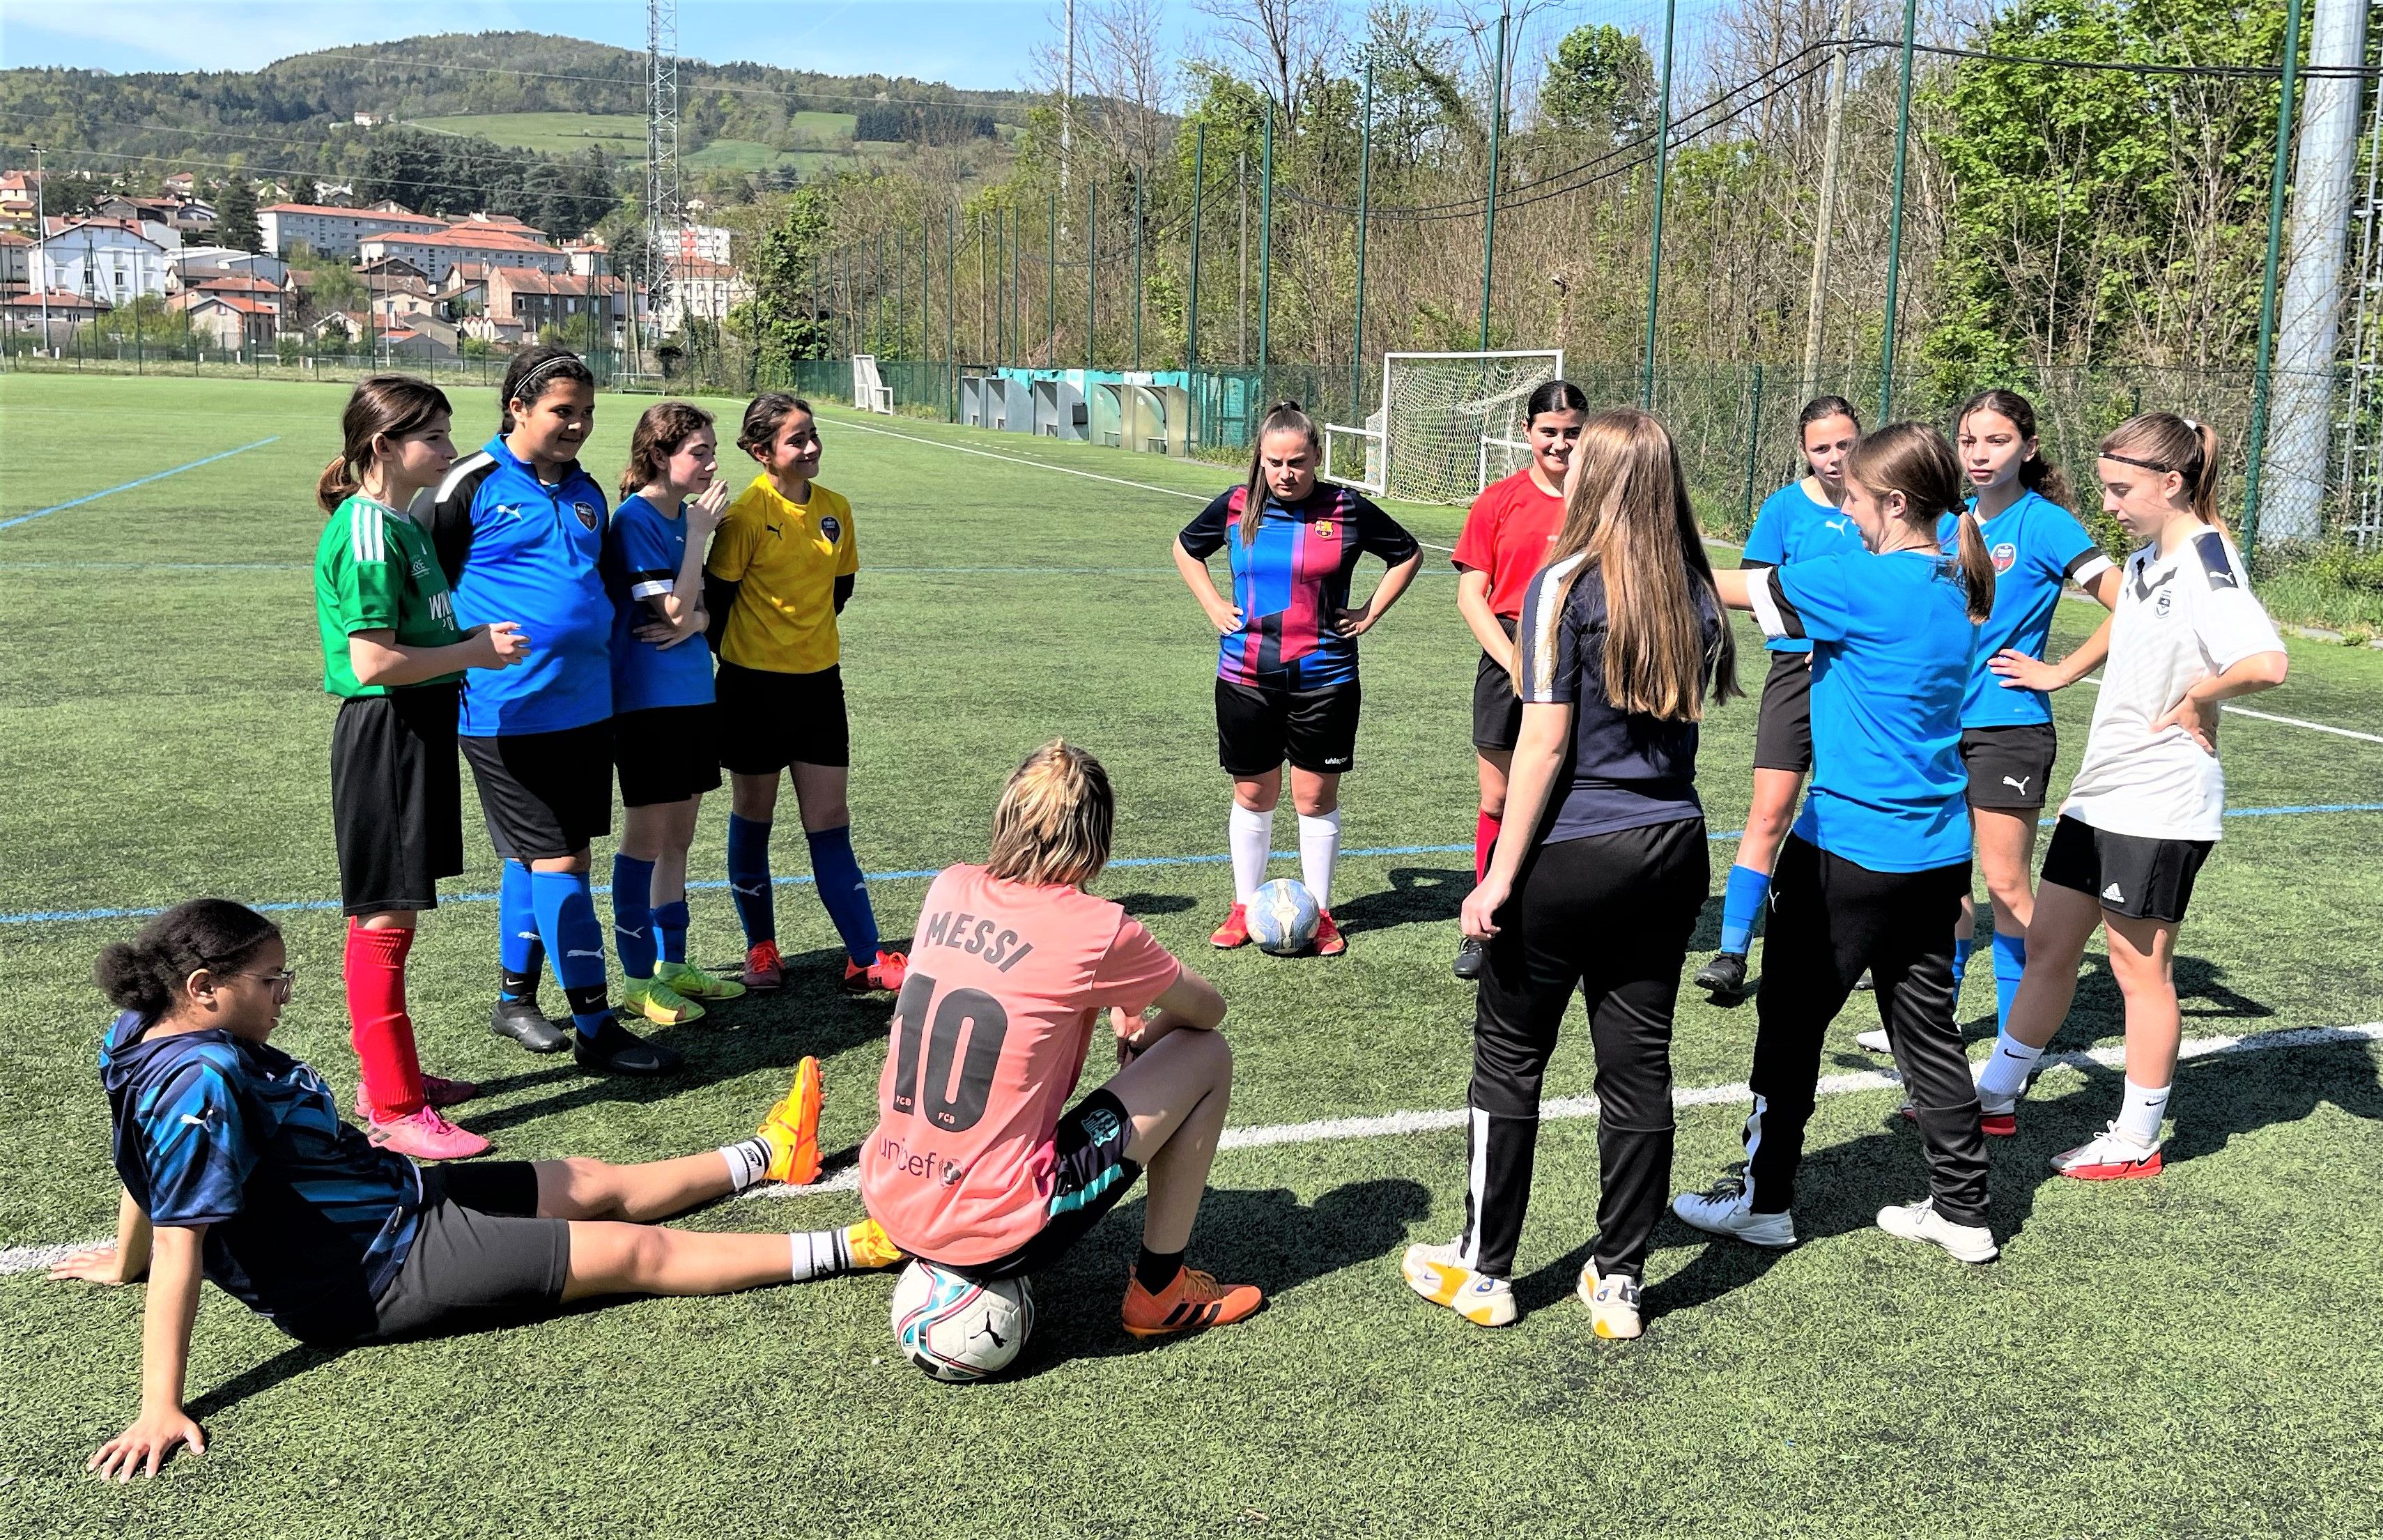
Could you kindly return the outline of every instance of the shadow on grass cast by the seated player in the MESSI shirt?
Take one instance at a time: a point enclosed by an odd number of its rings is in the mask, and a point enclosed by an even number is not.
[[[1034,1275],[1034,1337],[1006,1380],[1027,1380],[1070,1359],[1163,1349],[1118,1325],[1125,1278],[1141,1242],[1146,1199],[1120,1204],[1058,1266]],[[1432,1194],[1408,1178],[1375,1178],[1301,1204],[1287,1187],[1211,1187],[1187,1261],[1220,1283],[1256,1283],[1268,1299],[1346,1266],[1406,1247]]]

